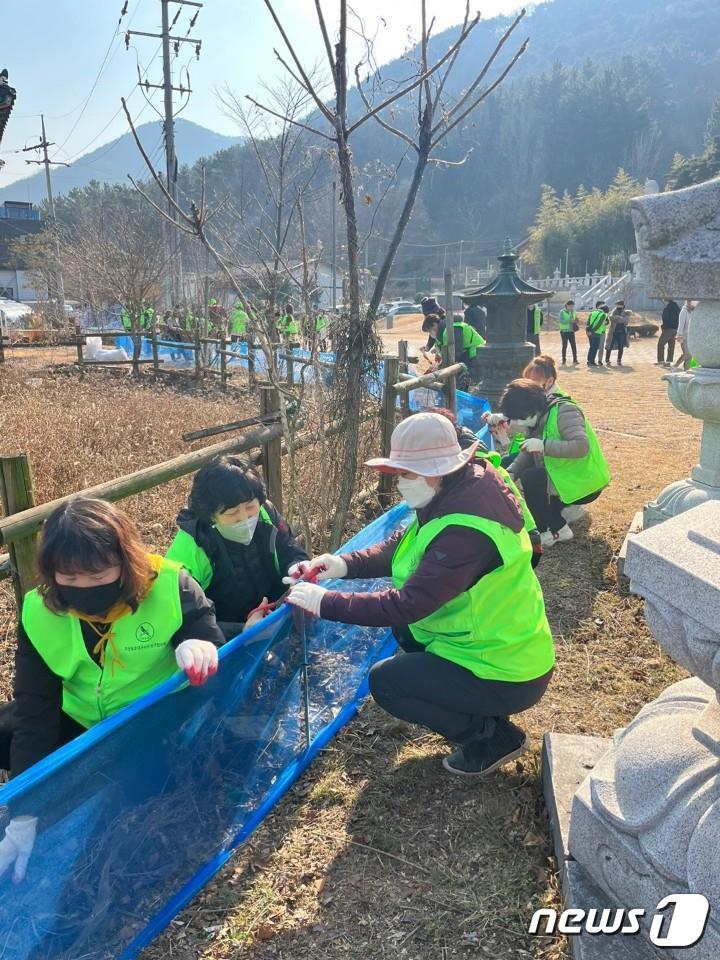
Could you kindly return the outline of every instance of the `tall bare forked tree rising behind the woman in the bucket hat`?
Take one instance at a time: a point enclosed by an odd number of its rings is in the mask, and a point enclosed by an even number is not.
[[[450,45],[446,53],[431,66],[428,62],[428,42],[433,23],[432,21],[430,24],[427,22],[426,0],[420,0],[422,33],[420,59],[415,76],[406,83],[398,84],[392,93],[384,94],[381,92],[378,101],[371,103],[365,96],[362,84],[360,83],[359,71],[362,68],[362,63],[359,64],[355,75],[358,81],[358,89],[363,97],[365,112],[357,119],[351,120],[348,116],[348,14],[350,10],[347,0],[339,0],[339,26],[334,45],[330,40],[330,33],[323,13],[321,0],[315,0],[318,28],[325,49],[327,66],[332,78],[331,89],[333,91],[333,102],[331,104],[326,102],[323,91],[315,82],[311,71],[303,66],[295,46],[275,9],[273,0],[264,0],[264,3],[282,37],[287,51],[286,56],[290,62],[277,50],[275,51],[276,57],[283,67],[285,67],[289,75],[311,98],[316,108],[316,116],[309,120],[304,119],[302,121],[291,119],[287,115],[283,115],[281,112],[275,110],[272,106],[262,104],[256,100],[252,100],[252,98],[249,99],[251,99],[256,106],[264,109],[269,115],[275,116],[283,122],[292,122],[332,144],[340,178],[340,200],[345,216],[347,236],[346,306],[348,324],[344,342],[340,344],[340,349],[337,351],[337,383],[339,389],[342,390],[344,394],[342,411],[345,427],[341,438],[343,463],[340,487],[331,537],[333,545],[337,545],[343,535],[356,483],[358,466],[357,450],[362,418],[361,405],[358,402],[358,398],[362,397],[365,393],[364,381],[368,365],[368,354],[374,352],[372,344],[376,339],[375,312],[382,299],[385,283],[392,268],[403,232],[412,214],[423,173],[431,159],[433,150],[451,130],[462,124],[492,90],[502,82],[524,52],[525,44],[515,53],[497,79],[486,87],[482,87],[488,71],[494,64],[510,34],[524,15],[524,11],[500,39],[495,51],[480,70],[475,80],[464,93],[461,94],[456,103],[446,111],[442,109],[442,107],[444,104],[443,92],[448,76],[463,44],[476,27],[480,17],[479,14],[476,14],[473,18],[470,18],[469,8],[466,8],[465,19],[457,38]],[[364,30],[362,30],[362,34],[365,35]],[[414,135],[411,135],[394,127],[383,114],[385,114],[393,104],[404,101],[414,91],[418,91],[418,121],[417,129]],[[412,146],[417,152],[417,162],[409,186],[408,196],[403,205],[400,220],[395,229],[385,261],[381,267],[375,289],[370,298],[370,303],[367,309],[363,311],[360,294],[360,244],[350,139],[355,131],[371,119],[375,119],[388,132],[398,136],[401,140],[404,140],[408,145]]]

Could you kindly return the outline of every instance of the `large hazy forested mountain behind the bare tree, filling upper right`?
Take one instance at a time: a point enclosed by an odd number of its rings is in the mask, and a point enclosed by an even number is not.
[[[501,17],[478,25],[446,88],[450,97],[472,82],[510,22]],[[456,36],[457,28],[431,41],[431,62]],[[470,265],[494,258],[505,236],[519,240],[527,235],[543,185],[560,197],[566,191],[576,195],[580,187],[605,189],[621,167],[640,183],[649,177],[663,184],[674,158],[677,168],[678,154],[702,154],[713,101],[720,95],[720,4],[549,0],[528,12],[498,63],[526,36],[528,50],[509,78],[445,141],[440,156],[453,162],[467,157],[465,162],[427,171],[396,276],[437,275],[444,265],[457,266],[460,257]],[[412,76],[416,56],[410,51],[382,67],[376,80],[392,86]],[[243,92],[238,88],[238,94]],[[351,112],[358,115],[362,104],[357,92],[351,103]],[[414,111],[411,96],[394,105],[392,122],[411,131]],[[323,121],[311,117],[310,122]],[[361,236],[370,234],[364,255],[372,270],[383,255],[383,238],[397,222],[414,158],[405,143],[372,120],[353,134],[351,144],[359,226]],[[276,174],[274,149],[272,143],[260,146]],[[312,190],[303,200],[306,238],[327,251],[329,184],[335,175],[327,141],[301,133],[291,153],[288,196],[315,171]],[[229,198],[232,205],[232,215],[219,217],[215,229],[225,239],[237,237],[244,244],[241,259],[252,260],[253,244],[257,247],[258,237],[272,227],[273,184],[249,143],[214,154],[206,171],[210,195]],[[197,164],[181,172],[186,195],[198,194],[198,182]],[[342,231],[339,236],[342,243]],[[267,253],[267,248],[257,249],[254,259]]]

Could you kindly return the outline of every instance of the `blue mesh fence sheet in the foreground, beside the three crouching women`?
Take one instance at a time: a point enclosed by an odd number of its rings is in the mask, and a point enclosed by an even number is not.
[[[409,517],[400,504],[347,548]],[[285,606],[228,643],[203,687],[172,678],[0,789],[6,816],[39,818],[26,879],[0,881],[1,960],[136,957],[351,718],[393,649],[387,630]]]

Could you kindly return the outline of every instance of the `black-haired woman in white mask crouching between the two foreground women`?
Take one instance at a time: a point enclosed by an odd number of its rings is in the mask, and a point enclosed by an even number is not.
[[[262,619],[284,592],[282,578],[307,554],[240,457],[217,457],[193,479],[187,508],[167,552],[215,604],[228,638]]]

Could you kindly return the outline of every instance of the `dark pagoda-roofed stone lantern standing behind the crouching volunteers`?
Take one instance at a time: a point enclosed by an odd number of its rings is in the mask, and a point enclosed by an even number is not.
[[[510,240],[505,241],[498,260],[497,276],[483,287],[471,287],[460,294],[465,303],[487,309],[487,343],[478,350],[477,364],[482,394],[492,404],[535,354],[526,339],[528,307],[552,295],[549,290],[526,283],[518,274]]]

